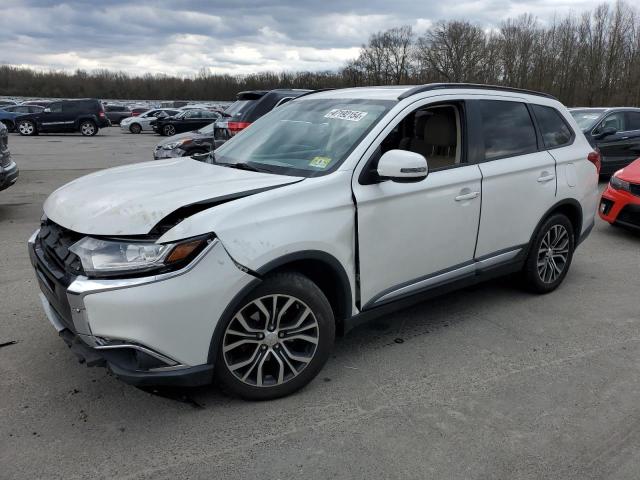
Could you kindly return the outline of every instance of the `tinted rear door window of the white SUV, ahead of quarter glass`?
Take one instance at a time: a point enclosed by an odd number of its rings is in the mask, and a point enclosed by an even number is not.
[[[480,100],[485,159],[513,157],[538,149],[536,131],[524,103]]]

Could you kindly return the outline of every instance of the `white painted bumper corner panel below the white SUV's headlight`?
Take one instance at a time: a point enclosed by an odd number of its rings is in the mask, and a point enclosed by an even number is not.
[[[183,365],[201,365],[222,312],[254,279],[218,243],[184,275],[87,295],[89,327],[95,336],[140,343]]]

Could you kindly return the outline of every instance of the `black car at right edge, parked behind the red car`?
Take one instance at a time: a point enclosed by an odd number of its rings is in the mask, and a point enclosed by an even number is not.
[[[640,157],[640,108],[571,108],[592,147],[600,149],[602,169],[610,175]]]

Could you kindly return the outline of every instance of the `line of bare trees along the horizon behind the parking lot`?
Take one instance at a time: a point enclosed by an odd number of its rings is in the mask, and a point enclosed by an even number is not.
[[[530,14],[484,29],[440,21],[374,33],[336,71],[134,76],[0,66],[0,95],[233,100],[243,90],[473,82],[551,93],[567,105],[640,105],[640,12],[623,1],[542,24]]]

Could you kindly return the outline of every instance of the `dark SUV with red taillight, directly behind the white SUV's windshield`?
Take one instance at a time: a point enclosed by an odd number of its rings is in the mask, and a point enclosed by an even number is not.
[[[278,88],[238,93],[236,102],[222,114],[224,118],[216,122],[214,130],[216,144],[226,142],[274,108],[308,92],[311,90]]]

